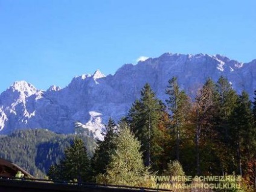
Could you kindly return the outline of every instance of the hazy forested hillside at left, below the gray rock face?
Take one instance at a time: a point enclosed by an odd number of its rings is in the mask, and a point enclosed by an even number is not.
[[[0,157],[7,159],[37,178],[43,178],[52,164],[63,157],[64,149],[75,136],[85,142],[89,156],[95,148],[93,138],[83,135],[64,135],[45,129],[17,130],[0,138]]]

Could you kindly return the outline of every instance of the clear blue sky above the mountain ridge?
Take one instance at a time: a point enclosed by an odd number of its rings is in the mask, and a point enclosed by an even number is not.
[[[0,0],[0,92],[163,53],[256,59],[255,0]]]

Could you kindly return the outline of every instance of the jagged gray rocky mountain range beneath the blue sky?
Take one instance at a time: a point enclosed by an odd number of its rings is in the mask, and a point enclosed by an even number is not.
[[[223,75],[240,94],[244,89],[252,98],[256,89],[256,60],[241,63],[227,57],[207,54],[165,53],[137,65],[123,65],[115,75],[74,77],[66,88],[51,86],[37,90],[27,82],[14,82],[0,95],[0,133],[15,129],[45,128],[60,133],[74,132],[79,121],[91,136],[102,138],[100,130],[109,117],[119,120],[127,114],[149,83],[161,100],[165,100],[168,80],[178,77],[179,85],[191,97],[206,78],[214,81]]]

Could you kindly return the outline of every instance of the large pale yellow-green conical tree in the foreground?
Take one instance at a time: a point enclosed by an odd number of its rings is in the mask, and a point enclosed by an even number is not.
[[[106,174],[98,175],[97,182],[144,186],[145,176],[149,176],[149,172],[144,167],[142,153],[139,152],[140,143],[127,126],[120,129],[115,145],[116,150],[110,158]]]

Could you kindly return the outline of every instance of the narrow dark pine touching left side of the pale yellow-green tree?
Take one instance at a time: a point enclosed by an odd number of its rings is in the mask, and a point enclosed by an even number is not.
[[[97,142],[97,148],[95,150],[94,156],[91,159],[92,167],[92,179],[98,174],[106,173],[107,165],[110,162],[110,157],[115,150],[114,138],[115,138],[115,124],[114,120],[109,118],[106,126],[106,135],[104,141]]]

